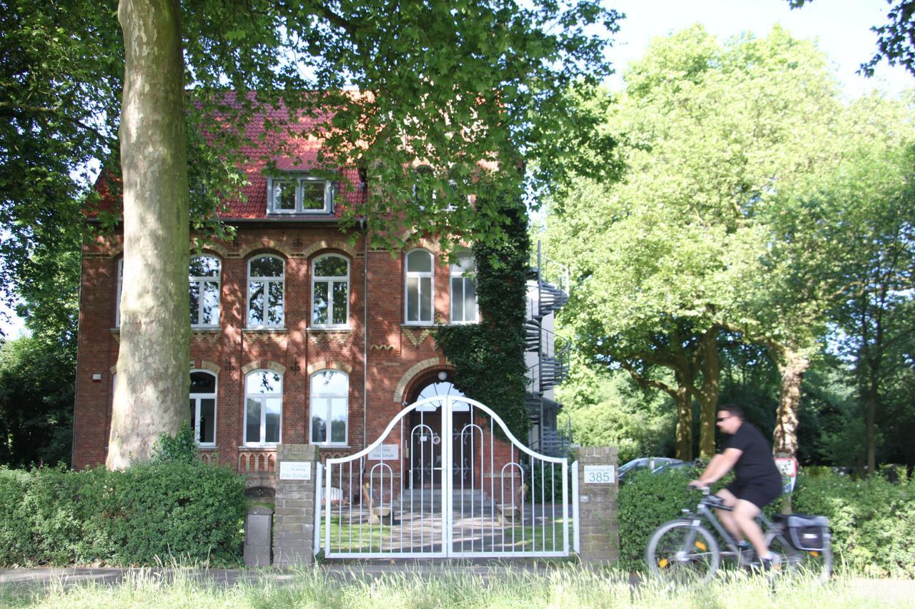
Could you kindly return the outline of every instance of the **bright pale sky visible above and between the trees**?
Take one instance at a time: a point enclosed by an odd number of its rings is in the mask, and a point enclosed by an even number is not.
[[[834,63],[849,97],[873,89],[896,95],[915,86],[915,76],[891,68],[885,61],[874,78],[856,74],[877,48],[877,34],[870,27],[888,22],[886,0],[813,0],[795,10],[787,0],[604,0],[604,4],[626,15],[608,53],[617,69],[608,82],[614,90],[623,87],[623,71],[644,54],[653,37],[667,36],[694,23],[721,39],[747,31],[764,37],[777,23],[794,37],[813,39]],[[11,320],[3,319],[4,311]],[[0,327],[7,337],[16,337],[23,329],[22,321],[4,306],[0,306]]]

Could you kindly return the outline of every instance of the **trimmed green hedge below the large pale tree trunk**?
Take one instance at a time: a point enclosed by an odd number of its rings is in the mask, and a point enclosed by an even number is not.
[[[238,564],[242,477],[199,462],[0,469],[0,564]]]

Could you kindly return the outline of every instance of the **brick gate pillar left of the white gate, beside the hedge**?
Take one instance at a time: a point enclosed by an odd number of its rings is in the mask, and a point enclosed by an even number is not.
[[[280,444],[276,449],[274,567],[315,561],[317,463],[314,444]]]

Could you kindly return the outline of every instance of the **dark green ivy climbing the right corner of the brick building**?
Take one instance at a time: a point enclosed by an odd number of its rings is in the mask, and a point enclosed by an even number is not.
[[[527,438],[531,420],[524,406],[524,305],[530,240],[521,198],[504,196],[499,211],[508,239],[477,244],[477,302],[480,320],[439,326],[436,345],[456,367],[455,385],[495,411],[511,433]]]

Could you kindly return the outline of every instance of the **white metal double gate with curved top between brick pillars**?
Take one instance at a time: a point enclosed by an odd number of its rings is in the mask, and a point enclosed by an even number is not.
[[[317,482],[327,558],[569,553],[568,460],[534,453],[479,401],[417,401]]]

